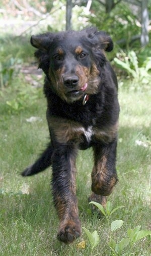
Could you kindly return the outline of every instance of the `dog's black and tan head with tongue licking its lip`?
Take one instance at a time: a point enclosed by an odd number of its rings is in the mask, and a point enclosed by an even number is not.
[[[45,33],[31,37],[38,48],[35,56],[50,86],[67,103],[95,94],[106,63],[105,51],[113,49],[111,38],[103,31],[88,28],[82,31]]]

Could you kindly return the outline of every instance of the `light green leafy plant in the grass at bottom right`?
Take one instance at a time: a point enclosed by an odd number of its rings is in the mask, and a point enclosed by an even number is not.
[[[140,239],[150,235],[151,236],[151,231],[149,230],[140,230],[141,226],[138,226],[134,229],[128,228],[127,229],[127,237],[123,237],[120,242],[116,242],[113,237],[113,232],[119,228],[122,227],[124,221],[123,220],[115,220],[112,221],[110,224],[110,216],[117,211],[118,209],[122,208],[123,206],[119,206],[116,208],[112,208],[112,205],[110,201],[107,202],[106,204],[106,209],[97,202],[90,202],[93,203],[100,211],[101,213],[105,216],[107,224],[108,224],[108,233],[109,233],[109,239],[110,241],[108,242],[108,245],[111,249],[112,255],[115,256],[120,256],[120,255],[130,255],[132,252],[132,247],[133,245]],[[92,250],[91,250],[91,255],[93,255],[93,249],[99,244],[100,238],[97,233],[97,231],[94,231],[91,233],[88,229],[83,228],[85,233],[87,234]],[[124,252],[124,249],[128,247],[127,251]],[[128,254],[127,254],[128,253]],[[95,254],[98,255],[98,254]]]

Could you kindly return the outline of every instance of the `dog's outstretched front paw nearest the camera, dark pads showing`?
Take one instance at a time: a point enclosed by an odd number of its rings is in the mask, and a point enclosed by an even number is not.
[[[80,221],[75,223],[73,221],[67,221],[63,226],[60,224],[57,238],[59,241],[64,243],[72,243],[81,235],[81,224]]]

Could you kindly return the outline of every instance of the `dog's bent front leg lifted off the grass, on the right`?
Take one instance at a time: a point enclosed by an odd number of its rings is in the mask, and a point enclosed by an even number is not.
[[[107,144],[96,144],[94,149],[94,167],[92,171],[92,195],[89,200],[95,200],[105,206],[106,196],[112,192],[117,182],[115,168],[116,138]],[[98,198],[98,195],[100,197]]]

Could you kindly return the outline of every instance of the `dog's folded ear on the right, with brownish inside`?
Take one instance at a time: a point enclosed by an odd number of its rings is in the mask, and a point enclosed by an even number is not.
[[[97,33],[99,42],[101,43],[101,48],[103,48],[106,52],[111,52],[113,50],[113,41],[109,35],[107,35],[104,31],[100,31]]]

